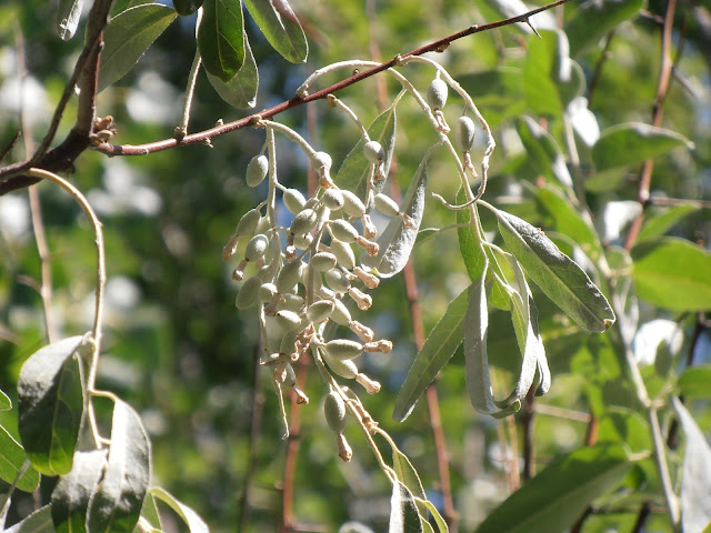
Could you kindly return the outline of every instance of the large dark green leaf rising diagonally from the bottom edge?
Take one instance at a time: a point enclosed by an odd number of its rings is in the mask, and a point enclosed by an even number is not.
[[[511,494],[475,533],[565,531],[591,502],[618,486],[631,465],[617,444],[570,452]]]

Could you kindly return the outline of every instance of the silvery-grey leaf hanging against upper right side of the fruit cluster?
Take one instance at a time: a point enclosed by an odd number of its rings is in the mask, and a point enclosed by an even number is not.
[[[404,225],[401,217],[390,219],[388,227],[378,238],[380,247],[374,258],[365,255],[361,262],[369,269],[375,269],[380,278],[391,278],[404,269],[412,253],[412,247],[418,237],[422,213],[424,212],[424,197],[427,192],[427,159],[424,159],[410,182],[410,188],[400,204],[400,212],[410,217],[412,224]]]

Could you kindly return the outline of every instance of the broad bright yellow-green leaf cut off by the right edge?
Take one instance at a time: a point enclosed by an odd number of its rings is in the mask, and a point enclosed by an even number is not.
[[[711,309],[711,253],[683,239],[643,242],[631,250],[637,295],[673,311]]]

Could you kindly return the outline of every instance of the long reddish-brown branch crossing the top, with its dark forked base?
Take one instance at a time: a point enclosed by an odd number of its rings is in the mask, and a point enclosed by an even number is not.
[[[153,152],[159,152],[162,150],[168,150],[171,148],[176,148],[179,145],[187,145],[187,144],[196,144],[196,143],[207,143],[208,141],[210,141],[211,139],[214,139],[217,137],[223,135],[226,133],[230,133],[232,131],[249,127],[253,123],[256,123],[258,120],[260,119],[269,119],[271,117],[274,117],[279,113],[282,113],[284,111],[288,111],[292,108],[302,105],[307,102],[311,102],[314,100],[321,100],[327,98],[328,94],[334,93],[337,91],[340,91],[342,89],[346,89],[347,87],[350,87],[352,84],[356,84],[367,78],[370,78],[379,72],[382,72],[384,70],[388,70],[392,67],[398,66],[403,59],[412,57],[412,56],[422,56],[427,52],[433,52],[433,51],[443,51],[445,50],[453,41],[458,40],[458,39],[463,39],[464,37],[469,37],[472,36],[474,33],[480,33],[482,31],[488,31],[488,30],[493,30],[494,28],[501,28],[504,26],[510,26],[510,24],[514,24],[514,23],[519,23],[519,22],[523,22],[523,23],[528,23],[529,19],[531,17],[533,17],[534,14],[538,14],[542,11],[552,9],[557,6],[561,6],[563,3],[569,2],[570,0],[557,0],[555,2],[549,3],[547,6],[542,6],[540,8],[533,9],[531,11],[528,11],[525,13],[519,14],[517,17],[511,17],[508,19],[503,19],[503,20],[499,20],[495,22],[491,22],[488,24],[474,24],[471,26],[464,30],[458,31],[455,33],[452,33],[448,37],[444,37],[442,39],[439,39],[437,41],[430,42],[429,44],[425,44],[423,47],[420,47],[415,50],[412,50],[408,53],[404,54],[399,54],[395,56],[393,59],[391,59],[390,61],[385,61],[384,63],[380,63],[377,67],[373,67],[372,69],[368,69],[364,70],[362,72],[358,72],[344,80],[341,80],[337,83],[333,83],[332,86],[329,86],[324,89],[321,89],[317,92],[313,92],[311,94],[307,94],[302,98],[300,97],[294,97],[291,100],[287,100],[284,102],[281,102],[277,105],[273,105],[269,109],[262,110],[259,113],[254,113],[250,117],[246,117],[243,119],[233,121],[233,122],[229,122],[227,124],[219,124],[214,128],[211,128],[209,130],[204,130],[198,133],[193,133],[190,135],[186,135],[184,138],[182,138],[180,141],[178,139],[164,139],[162,141],[157,141],[157,142],[150,142],[147,144],[140,144],[140,145],[130,145],[130,144],[123,144],[123,145],[119,145],[119,144],[109,144],[109,143],[102,143],[99,144],[98,147],[96,147],[96,149],[107,155],[146,155],[149,153],[153,153]],[[110,6],[111,6],[111,0],[97,0],[97,3],[94,4],[94,8],[100,4],[106,9],[106,12],[108,13],[108,10],[110,10]],[[108,8],[107,8],[108,6]],[[93,9],[93,8],[92,8]],[[92,17],[100,17],[101,13],[97,13],[96,16],[92,12]],[[101,19],[103,20],[103,19]],[[97,37],[97,43],[99,42],[100,34]],[[91,42],[91,41],[88,41]],[[98,46],[98,44],[97,44]],[[84,50],[82,51],[82,54],[80,56],[78,63],[77,63],[77,68],[74,69],[74,74],[72,76],[72,79],[76,80],[79,78],[79,74],[82,72],[83,70],[83,66],[84,62],[87,62],[88,58],[90,57],[92,50],[93,50],[93,46],[89,46],[87,44],[87,47],[84,48]],[[71,87],[73,88],[73,83],[72,80],[70,80],[70,83],[68,83],[68,88]],[[67,92],[67,91],[66,91]],[[68,97],[67,97],[68,100]],[[62,98],[62,101],[60,102],[60,105],[58,105],[58,113],[60,118],[61,118],[61,111],[63,111],[63,107],[66,105],[66,100],[64,98]],[[80,105],[81,108],[81,105]],[[57,121],[57,123],[59,123],[59,121]],[[64,141],[57,147],[56,149],[47,152],[46,154],[43,154],[41,158],[39,158],[38,160],[34,161],[22,161],[20,163],[16,163],[16,164],[11,164],[4,168],[0,168],[0,194],[4,194],[6,192],[16,190],[16,189],[21,189],[24,187],[28,187],[32,183],[34,183],[37,180],[34,178],[29,178],[27,175],[23,174],[23,172],[30,167],[33,165],[36,168],[43,168],[47,170],[50,170],[52,172],[62,172],[62,171],[67,171],[67,170],[71,170],[72,164],[74,162],[74,160],[88,148],[90,148],[90,141],[89,141],[89,133],[88,131],[79,131],[77,128],[73,128],[67,139],[64,139]],[[53,138],[52,133],[51,135],[46,137],[50,138],[50,142],[51,142],[51,138]]]

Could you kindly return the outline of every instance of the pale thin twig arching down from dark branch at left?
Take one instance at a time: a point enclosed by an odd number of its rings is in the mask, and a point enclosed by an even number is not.
[[[103,248],[103,232],[101,231],[101,221],[94,213],[93,209],[87,201],[87,198],[81,193],[79,189],[69,183],[63,178],[59,175],[48,172],[43,169],[29,169],[28,175],[32,178],[38,178],[40,180],[49,180],[59,184],[62,189],[68,191],[77,203],[81,205],[81,209],[84,211],[89,220],[91,221],[91,225],[93,227],[94,239],[97,244],[97,295],[94,300],[94,318],[93,318],[93,329],[92,329],[92,341],[93,341],[93,352],[91,355],[91,361],[89,365],[89,374],[87,376],[87,391],[89,395],[99,394],[100,391],[96,390],[97,382],[97,371],[99,366],[99,354],[101,352],[101,324],[103,323],[103,290],[107,282],[107,263]],[[97,447],[101,447],[101,435],[99,434],[99,429],[97,425],[97,416],[93,410],[93,402],[91,399],[88,399],[87,411],[89,416],[89,424],[92,430],[93,439],[97,444]]]

